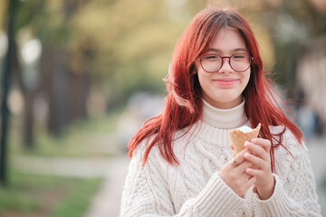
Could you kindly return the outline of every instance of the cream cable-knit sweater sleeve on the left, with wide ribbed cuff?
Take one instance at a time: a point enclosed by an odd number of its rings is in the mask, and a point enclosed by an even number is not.
[[[168,189],[162,158],[152,157],[141,165],[143,151],[132,156],[122,193],[120,217],[138,216],[232,216],[245,200],[223,182],[216,173],[196,197],[189,198],[175,211]],[[155,158],[155,160],[153,159]]]

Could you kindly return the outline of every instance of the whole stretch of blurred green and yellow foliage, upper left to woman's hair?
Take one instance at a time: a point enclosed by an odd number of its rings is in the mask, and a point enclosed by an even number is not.
[[[87,72],[110,104],[121,104],[135,91],[165,91],[177,39],[205,4],[29,0],[19,3],[15,26],[20,38],[40,38],[43,52],[64,47],[71,71]]]

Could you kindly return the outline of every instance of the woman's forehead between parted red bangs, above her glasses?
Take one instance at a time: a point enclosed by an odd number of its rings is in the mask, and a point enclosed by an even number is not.
[[[235,50],[245,50],[245,39],[239,31],[231,28],[222,28],[213,37],[209,49],[220,52],[232,52]]]

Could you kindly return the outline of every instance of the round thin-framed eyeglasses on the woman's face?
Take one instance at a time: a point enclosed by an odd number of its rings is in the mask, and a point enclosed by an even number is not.
[[[202,58],[197,58],[204,71],[212,73],[219,71],[223,66],[223,59],[229,59],[229,65],[236,72],[244,72],[249,69],[254,57],[246,53],[235,53],[232,56],[220,56],[218,54],[205,55]]]

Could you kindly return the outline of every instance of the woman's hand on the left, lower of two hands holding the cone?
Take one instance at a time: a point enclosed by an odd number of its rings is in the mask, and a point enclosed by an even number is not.
[[[254,177],[245,171],[253,164],[245,160],[247,149],[240,152],[231,161],[227,162],[219,172],[222,180],[240,197],[254,184]]]

